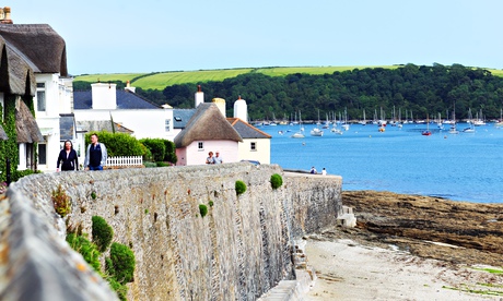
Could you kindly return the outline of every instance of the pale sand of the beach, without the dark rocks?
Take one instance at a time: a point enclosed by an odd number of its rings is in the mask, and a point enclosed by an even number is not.
[[[503,293],[501,276],[422,258],[391,246],[314,237],[305,251],[317,276],[306,300],[503,300],[502,294],[469,292],[490,293],[494,288],[481,284],[492,284]]]

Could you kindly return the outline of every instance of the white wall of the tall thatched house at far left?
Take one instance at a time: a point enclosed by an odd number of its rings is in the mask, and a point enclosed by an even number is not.
[[[72,93],[69,84],[71,84],[72,79],[61,79],[57,73],[36,73],[35,80],[37,83],[37,92],[34,97],[35,118],[45,139],[45,143],[38,143],[38,170],[55,171],[61,149],[59,113],[63,103],[68,104],[63,108],[71,110]],[[20,149],[20,154],[21,152]]]

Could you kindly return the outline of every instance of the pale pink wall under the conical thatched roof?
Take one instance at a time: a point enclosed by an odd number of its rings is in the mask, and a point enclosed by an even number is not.
[[[200,148],[199,143],[202,143]],[[178,161],[176,165],[204,165],[208,153],[219,150],[223,162],[239,161],[238,145],[235,141],[195,141],[185,148],[177,148],[176,156]]]

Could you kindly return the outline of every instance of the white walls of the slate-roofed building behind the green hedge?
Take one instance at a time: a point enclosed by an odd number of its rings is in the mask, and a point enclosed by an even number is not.
[[[110,120],[133,131],[136,139],[166,139],[173,141],[173,109],[93,109],[74,110],[75,120]],[[166,124],[167,123],[167,124]]]

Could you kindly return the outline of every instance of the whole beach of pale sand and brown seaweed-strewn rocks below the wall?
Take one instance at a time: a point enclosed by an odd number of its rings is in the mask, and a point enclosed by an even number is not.
[[[304,238],[305,300],[503,300],[501,205],[369,191],[343,204],[355,228]]]

